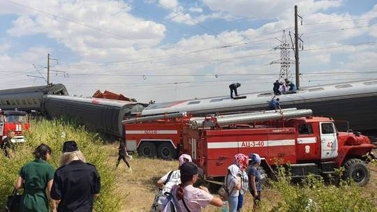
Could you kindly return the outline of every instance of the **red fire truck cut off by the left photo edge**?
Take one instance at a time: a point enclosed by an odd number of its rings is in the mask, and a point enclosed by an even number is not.
[[[0,111],[0,137],[5,139],[9,131],[15,132],[15,137],[10,139],[13,143],[25,142],[24,131],[29,130],[27,113],[16,110]]]

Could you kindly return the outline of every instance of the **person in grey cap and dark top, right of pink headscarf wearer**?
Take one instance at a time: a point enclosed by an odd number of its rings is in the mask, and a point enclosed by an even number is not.
[[[260,156],[256,153],[251,153],[249,158],[250,160],[250,169],[249,169],[249,190],[251,195],[254,197],[255,209],[260,201],[260,190],[262,190],[262,173],[260,172]]]

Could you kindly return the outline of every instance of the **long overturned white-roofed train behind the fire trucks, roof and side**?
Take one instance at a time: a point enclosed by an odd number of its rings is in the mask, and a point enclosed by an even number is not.
[[[155,103],[142,111],[142,115],[189,112],[206,115],[215,113],[265,110],[274,93],[246,93],[243,99],[229,96],[198,98],[170,103]],[[312,109],[314,116],[328,116],[350,122],[350,128],[363,132],[377,130],[377,79],[313,86],[296,93],[276,96],[282,108]]]

